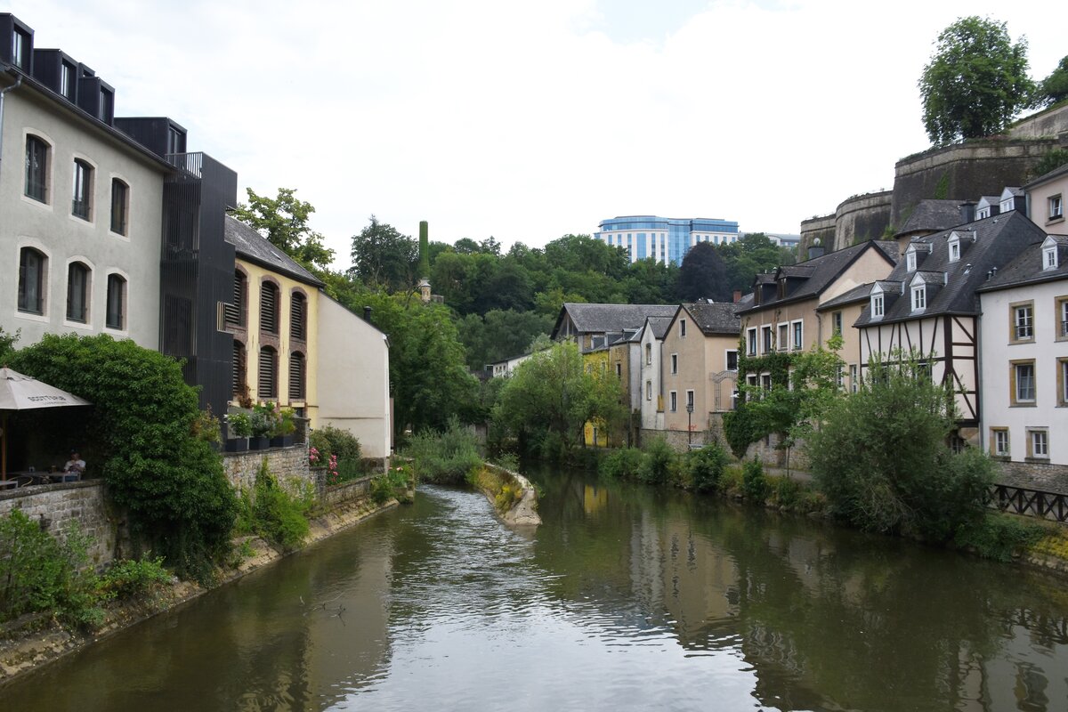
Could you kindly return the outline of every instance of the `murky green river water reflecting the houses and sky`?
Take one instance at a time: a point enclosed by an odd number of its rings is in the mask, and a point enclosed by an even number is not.
[[[1068,710],[1063,580],[714,499],[421,487],[0,710]]]

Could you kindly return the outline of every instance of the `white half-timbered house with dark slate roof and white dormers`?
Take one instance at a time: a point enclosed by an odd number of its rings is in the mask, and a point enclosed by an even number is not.
[[[1015,200],[1015,199],[1014,199]],[[976,290],[1046,234],[1021,211],[920,237],[876,282],[855,327],[862,378],[871,359],[915,353],[921,367],[956,393],[958,437],[979,444],[979,300]]]

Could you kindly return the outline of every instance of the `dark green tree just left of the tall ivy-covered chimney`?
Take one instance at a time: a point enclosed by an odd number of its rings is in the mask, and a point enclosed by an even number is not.
[[[371,216],[370,225],[352,236],[351,257],[349,275],[368,287],[392,292],[407,291],[415,284],[419,242],[378,222],[375,216]]]

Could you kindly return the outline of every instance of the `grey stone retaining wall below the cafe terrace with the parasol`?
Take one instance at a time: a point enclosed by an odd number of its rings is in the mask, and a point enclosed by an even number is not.
[[[72,524],[92,539],[89,559],[97,568],[115,558],[119,523],[109,513],[104,481],[60,482],[0,492],[0,517],[21,509],[46,531],[62,536]]]

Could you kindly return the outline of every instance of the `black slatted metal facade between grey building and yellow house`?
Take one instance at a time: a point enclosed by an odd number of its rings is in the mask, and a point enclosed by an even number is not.
[[[231,397],[234,337],[220,321],[235,269],[223,233],[226,210],[237,204],[237,174],[204,154],[167,159],[179,170],[163,185],[160,350],[185,361],[201,408],[221,414]]]

